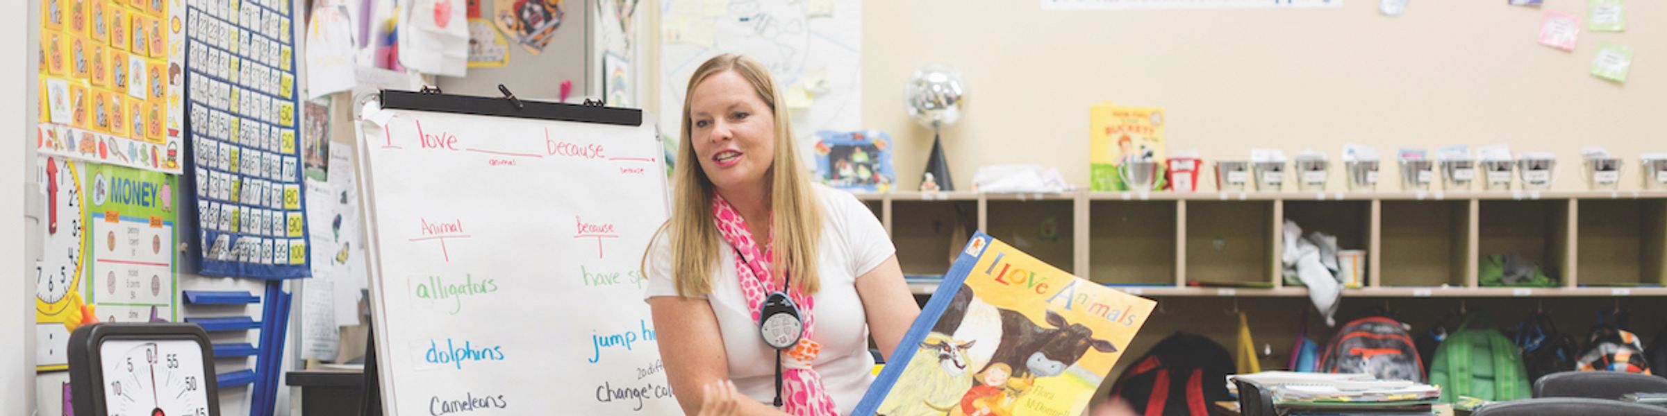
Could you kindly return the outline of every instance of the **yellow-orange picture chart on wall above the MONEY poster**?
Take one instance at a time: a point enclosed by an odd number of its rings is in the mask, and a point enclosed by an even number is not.
[[[182,0],[40,0],[35,150],[180,173]]]

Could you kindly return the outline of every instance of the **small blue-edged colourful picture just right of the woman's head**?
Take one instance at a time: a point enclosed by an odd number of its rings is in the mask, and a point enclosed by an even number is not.
[[[817,180],[850,191],[890,191],[892,136],[877,130],[815,133]]]

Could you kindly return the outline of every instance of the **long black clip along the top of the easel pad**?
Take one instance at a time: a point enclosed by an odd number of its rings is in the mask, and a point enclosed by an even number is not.
[[[570,105],[533,100],[518,100],[522,105],[517,108],[515,102],[507,97],[472,97],[398,90],[382,90],[378,98],[382,98],[382,108],[393,110],[513,116],[622,126],[642,125],[642,110],[638,108]]]

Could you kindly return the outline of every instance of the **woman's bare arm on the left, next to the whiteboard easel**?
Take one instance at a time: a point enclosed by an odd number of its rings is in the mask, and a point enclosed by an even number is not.
[[[700,414],[705,401],[702,386],[718,386],[728,381],[728,353],[723,351],[723,334],[712,305],[698,298],[655,296],[648,298],[653,311],[655,341],[660,343],[660,361],[665,378],[677,393],[683,414]],[[763,403],[742,396],[733,414],[787,414]]]

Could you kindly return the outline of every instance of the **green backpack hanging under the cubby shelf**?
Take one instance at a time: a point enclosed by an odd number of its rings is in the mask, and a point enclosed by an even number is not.
[[[1482,313],[1465,314],[1459,329],[1435,348],[1430,384],[1442,388],[1444,403],[1459,401],[1459,396],[1525,399],[1534,393],[1522,351]]]

